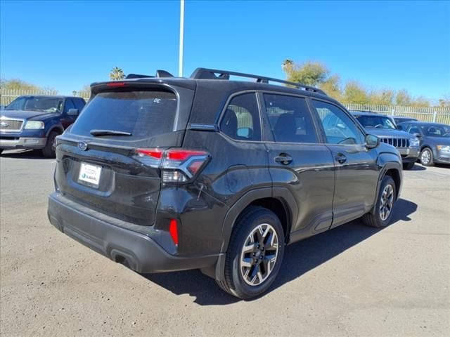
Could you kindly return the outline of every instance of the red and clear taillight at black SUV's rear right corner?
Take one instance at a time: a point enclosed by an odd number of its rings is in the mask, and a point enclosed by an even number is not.
[[[210,160],[210,154],[201,150],[136,149],[135,159],[147,166],[160,168],[164,183],[188,183]]]

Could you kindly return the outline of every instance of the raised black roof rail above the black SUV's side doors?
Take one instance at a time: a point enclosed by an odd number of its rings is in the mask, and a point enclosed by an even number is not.
[[[230,79],[230,75],[238,77],[247,77],[249,79],[256,79],[258,83],[269,84],[269,81],[271,81],[282,84],[288,84],[290,86],[295,86],[295,88],[299,88],[305,91],[312,91],[314,93],[321,93],[322,95],[326,95],[324,91],[318,88],[314,88],[314,86],[306,86],[304,84],[300,84],[297,82],[284,81],[283,79],[273,79],[271,77],[244,74],[243,72],[229,72],[228,70],[197,68],[192,73],[191,79]]]

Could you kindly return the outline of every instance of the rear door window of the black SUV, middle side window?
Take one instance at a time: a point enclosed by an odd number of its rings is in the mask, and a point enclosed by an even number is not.
[[[304,98],[264,94],[264,102],[276,142],[319,143]]]

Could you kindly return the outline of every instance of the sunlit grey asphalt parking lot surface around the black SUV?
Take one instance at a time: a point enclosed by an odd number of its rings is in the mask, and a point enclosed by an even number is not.
[[[0,158],[1,336],[450,336],[450,167],[404,171],[384,230],[353,221],[288,246],[271,291],[199,271],[139,275],[47,219],[54,159]]]

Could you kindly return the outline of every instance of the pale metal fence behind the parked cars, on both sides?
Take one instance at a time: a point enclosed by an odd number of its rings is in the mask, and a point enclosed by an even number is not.
[[[57,91],[27,91],[0,89],[1,105],[8,105],[20,95],[57,95]],[[89,100],[90,94],[86,91],[73,91],[72,95]],[[413,117],[419,121],[435,121],[437,123],[450,124],[450,107],[409,107],[401,105],[345,105],[350,111],[371,111],[378,114],[390,114],[391,116]]]

